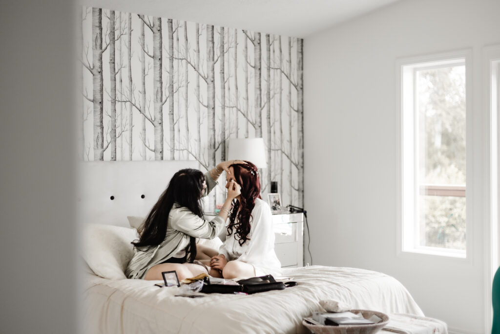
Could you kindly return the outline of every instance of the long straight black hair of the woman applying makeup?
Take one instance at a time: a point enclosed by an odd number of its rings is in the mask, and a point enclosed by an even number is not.
[[[165,191],[158,198],[156,204],[147,215],[144,223],[139,227],[139,240],[133,241],[134,247],[147,250],[159,245],[165,239],[168,214],[174,203],[186,207],[197,215],[203,216],[200,198],[203,195],[205,177],[197,169],[181,169],[175,173]],[[196,257],[196,241],[189,238],[187,261],[192,262]]]

